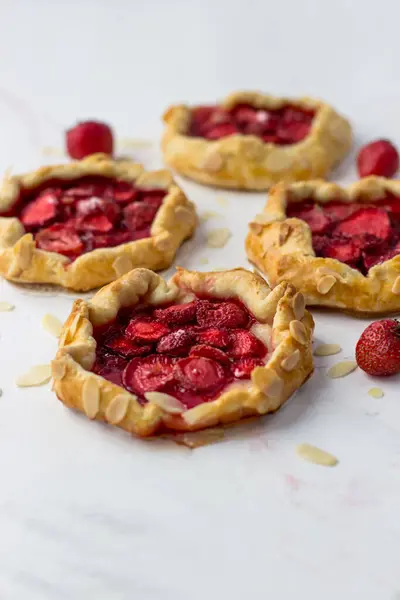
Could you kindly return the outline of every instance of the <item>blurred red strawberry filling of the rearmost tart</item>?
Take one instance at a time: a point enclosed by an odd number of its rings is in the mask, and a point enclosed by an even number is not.
[[[189,135],[219,140],[240,133],[255,135],[266,143],[297,144],[310,133],[314,116],[314,111],[290,105],[278,110],[249,104],[238,104],[230,110],[199,106],[192,110]]]

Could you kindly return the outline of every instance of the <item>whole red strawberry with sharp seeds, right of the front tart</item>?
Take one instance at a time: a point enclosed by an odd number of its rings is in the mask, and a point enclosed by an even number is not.
[[[400,373],[400,323],[383,319],[371,323],[356,346],[356,361],[368,375]]]

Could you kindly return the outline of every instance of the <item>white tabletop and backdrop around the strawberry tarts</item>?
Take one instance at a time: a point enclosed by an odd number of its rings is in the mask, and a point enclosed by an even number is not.
[[[46,161],[77,119],[110,122],[161,164],[160,115],[240,88],[322,97],[347,114],[356,144],[400,143],[398,0],[0,0],[0,168]],[[356,176],[351,156],[336,179]],[[203,224],[177,264],[246,265],[246,223],[264,194],[183,182]],[[215,205],[217,196],[225,208]],[[224,250],[204,233],[228,226]],[[1,600],[394,600],[400,597],[399,379],[332,381],[366,321],[314,313],[311,381],[279,413],[196,451],[131,439],[14,380],[48,362],[46,312],[73,296],[0,284]],[[384,398],[367,391],[381,385]],[[314,443],[340,464],[302,462]]]

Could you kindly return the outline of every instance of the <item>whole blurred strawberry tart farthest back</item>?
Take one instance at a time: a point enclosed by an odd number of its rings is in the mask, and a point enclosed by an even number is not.
[[[325,177],[351,146],[351,128],[311,98],[238,92],[217,106],[171,106],[164,158],[178,173],[224,188],[266,190]]]

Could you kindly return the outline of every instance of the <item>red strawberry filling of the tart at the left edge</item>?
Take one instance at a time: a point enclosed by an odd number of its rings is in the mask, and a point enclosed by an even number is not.
[[[75,259],[149,237],[166,193],[106,177],[49,181],[23,189],[7,213],[18,217],[42,250]]]

